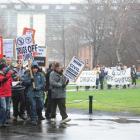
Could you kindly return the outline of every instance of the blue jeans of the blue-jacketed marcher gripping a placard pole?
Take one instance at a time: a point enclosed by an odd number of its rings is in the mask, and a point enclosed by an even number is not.
[[[31,121],[37,121],[38,120],[37,110],[42,111],[43,109],[42,97],[28,97],[28,98],[31,105],[31,112],[30,112]]]

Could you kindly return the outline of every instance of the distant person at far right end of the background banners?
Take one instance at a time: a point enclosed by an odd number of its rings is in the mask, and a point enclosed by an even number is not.
[[[137,70],[136,70],[136,66],[133,65],[131,67],[131,78],[132,78],[132,85],[136,86],[136,79],[137,79]]]

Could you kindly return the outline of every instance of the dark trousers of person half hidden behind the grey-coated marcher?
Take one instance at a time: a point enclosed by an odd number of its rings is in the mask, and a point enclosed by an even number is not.
[[[47,98],[45,101],[45,116],[47,119],[51,117],[51,108],[52,108],[52,99],[51,99],[51,90],[48,90]]]

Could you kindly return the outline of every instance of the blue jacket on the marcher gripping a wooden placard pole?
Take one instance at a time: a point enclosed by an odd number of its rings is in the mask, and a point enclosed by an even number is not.
[[[22,77],[23,85],[27,89],[27,97],[42,97],[45,88],[45,76],[40,72],[33,74],[35,89],[33,89],[33,84],[31,81],[31,76],[29,72],[26,72]]]

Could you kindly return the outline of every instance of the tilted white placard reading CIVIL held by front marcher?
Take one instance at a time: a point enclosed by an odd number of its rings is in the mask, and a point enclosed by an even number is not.
[[[64,75],[70,80],[70,81],[76,81],[79,74],[84,68],[84,62],[80,59],[76,58],[75,56],[70,61],[69,65],[67,66],[66,70],[64,71]]]

